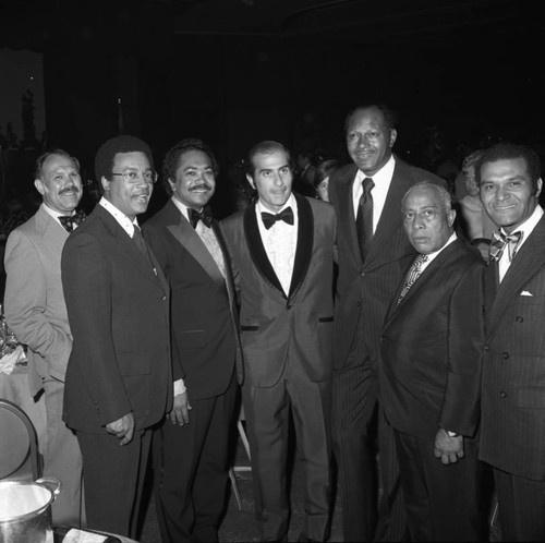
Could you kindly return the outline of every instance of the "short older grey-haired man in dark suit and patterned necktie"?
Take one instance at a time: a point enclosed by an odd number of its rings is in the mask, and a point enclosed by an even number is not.
[[[395,429],[409,532],[411,541],[480,541],[485,266],[457,238],[441,186],[413,185],[402,215],[417,255],[405,261],[380,338],[380,402]]]

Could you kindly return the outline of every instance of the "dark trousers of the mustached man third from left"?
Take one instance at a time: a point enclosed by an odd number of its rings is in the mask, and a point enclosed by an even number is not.
[[[229,443],[238,385],[191,400],[190,422],[165,421],[154,435],[154,495],[164,543],[218,541],[227,503]]]

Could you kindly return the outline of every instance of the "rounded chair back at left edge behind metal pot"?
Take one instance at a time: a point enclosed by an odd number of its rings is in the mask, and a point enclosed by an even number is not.
[[[0,479],[39,479],[41,456],[36,430],[19,406],[2,398],[0,436]]]

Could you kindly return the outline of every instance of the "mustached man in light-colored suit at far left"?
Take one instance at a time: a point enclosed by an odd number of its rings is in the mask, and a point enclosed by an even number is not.
[[[53,523],[80,526],[82,455],[74,433],[62,421],[72,333],[61,283],[62,248],[81,219],[75,213],[82,198],[80,164],[62,149],[45,153],[37,159],[34,185],[41,205],[11,232],[5,246],[5,318],[28,347],[31,395],[44,390],[44,475],[62,483],[51,506]]]

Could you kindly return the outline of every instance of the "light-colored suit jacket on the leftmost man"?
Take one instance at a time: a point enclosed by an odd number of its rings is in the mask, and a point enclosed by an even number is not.
[[[64,381],[72,349],[61,282],[61,253],[69,232],[41,205],[13,230],[5,245],[5,318],[28,346],[31,394],[41,378]]]

